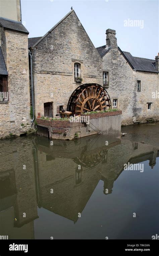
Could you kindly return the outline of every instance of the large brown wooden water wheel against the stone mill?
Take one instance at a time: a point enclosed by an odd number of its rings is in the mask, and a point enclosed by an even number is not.
[[[67,105],[67,111],[75,115],[109,108],[111,108],[110,97],[99,84],[80,85],[70,96]]]

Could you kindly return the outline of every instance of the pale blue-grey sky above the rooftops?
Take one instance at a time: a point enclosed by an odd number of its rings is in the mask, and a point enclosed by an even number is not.
[[[106,29],[116,30],[121,50],[155,59],[159,52],[159,2],[146,0],[21,0],[29,37],[43,36],[71,6],[95,47],[106,45]]]

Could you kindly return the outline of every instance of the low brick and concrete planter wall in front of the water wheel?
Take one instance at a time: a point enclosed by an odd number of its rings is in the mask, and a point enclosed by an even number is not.
[[[69,120],[45,120],[37,118],[37,124],[48,128],[49,137],[55,139],[73,139],[76,134],[78,138],[88,135],[97,134],[99,132],[110,135],[112,137],[120,137],[121,133],[121,114],[122,111],[103,112],[97,114],[81,116],[89,117],[86,124],[81,122],[70,122]],[[87,122],[89,121],[89,122]],[[40,129],[40,127],[39,127]],[[47,137],[47,129],[39,131],[39,135]]]

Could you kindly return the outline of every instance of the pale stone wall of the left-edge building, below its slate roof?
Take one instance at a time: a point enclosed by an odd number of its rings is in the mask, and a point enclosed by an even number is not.
[[[10,133],[20,135],[31,127],[28,34],[1,29],[1,38],[9,101],[0,102],[0,138]]]

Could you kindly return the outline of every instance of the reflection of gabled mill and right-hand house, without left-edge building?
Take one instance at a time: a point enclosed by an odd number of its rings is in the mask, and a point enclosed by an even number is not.
[[[47,161],[48,154],[51,161]],[[40,138],[37,155],[39,206],[76,222],[78,212],[83,211],[100,179],[104,181],[103,193],[112,193],[125,163],[150,160],[151,164],[157,149],[97,135],[68,143],[55,141],[54,146],[49,142],[45,145]]]

